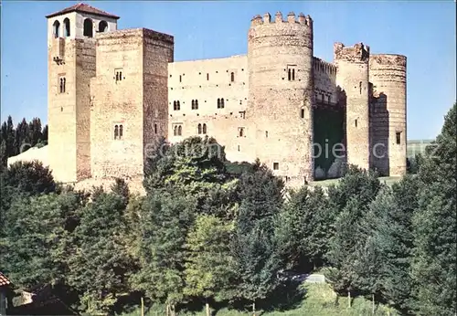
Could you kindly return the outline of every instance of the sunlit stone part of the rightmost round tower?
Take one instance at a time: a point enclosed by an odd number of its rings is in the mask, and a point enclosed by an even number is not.
[[[370,82],[373,84],[374,104],[373,115],[378,124],[374,133],[384,132],[385,153],[388,174],[400,176],[406,174],[406,57],[402,55],[379,54],[371,55]],[[384,114],[382,117],[380,115]]]

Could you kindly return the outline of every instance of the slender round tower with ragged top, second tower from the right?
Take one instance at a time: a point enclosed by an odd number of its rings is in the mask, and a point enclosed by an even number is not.
[[[369,47],[359,43],[334,45],[336,85],[345,106],[346,159],[360,168],[370,167]]]

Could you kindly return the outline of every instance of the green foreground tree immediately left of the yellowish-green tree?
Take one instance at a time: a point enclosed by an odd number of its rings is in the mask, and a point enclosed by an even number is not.
[[[165,302],[167,311],[184,298],[186,237],[195,216],[195,201],[167,192],[149,194],[139,210],[136,258],[140,269],[133,289]]]

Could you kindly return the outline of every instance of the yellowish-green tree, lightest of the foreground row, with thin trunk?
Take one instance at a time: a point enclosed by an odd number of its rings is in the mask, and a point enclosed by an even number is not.
[[[231,225],[211,215],[197,216],[195,226],[187,236],[185,294],[205,300],[230,297],[230,281],[234,279],[233,261],[229,254],[228,240]]]

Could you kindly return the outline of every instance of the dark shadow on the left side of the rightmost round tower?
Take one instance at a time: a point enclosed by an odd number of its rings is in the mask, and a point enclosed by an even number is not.
[[[370,165],[380,176],[389,174],[388,96],[381,92],[370,102]]]

